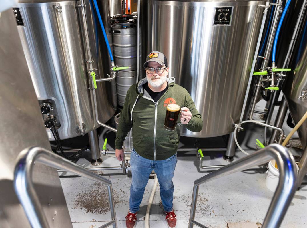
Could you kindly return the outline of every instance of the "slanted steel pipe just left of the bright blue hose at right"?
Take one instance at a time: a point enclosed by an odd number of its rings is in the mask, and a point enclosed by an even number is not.
[[[264,54],[264,56],[266,58],[263,59],[262,66],[261,66],[261,71],[264,71],[266,69],[266,67],[267,67],[267,64],[268,64],[268,60],[269,60],[270,52],[271,52],[271,49],[272,49],[275,32],[276,32],[276,27],[277,27],[277,23],[278,23],[278,17],[279,17],[281,3],[282,3],[282,0],[278,0],[277,6],[275,8],[273,22],[272,22],[272,27],[271,27],[270,35],[269,35],[269,38],[268,38],[268,42],[267,42],[266,50],[265,50],[265,54]],[[254,120],[253,119],[253,114],[254,114],[255,106],[256,106],[256,103],[257,103],[257,97],[258,97],[258,94],[259,94],[259,91],[260,91],[260,87],[261,87],[261,82],[262,82],[262,75],[259,75],[258,77],[259,78],[258,78],[257,85],[256,85],[257,88],[256,88],[256,91],[255,91],[255,95],[254,95],[254,99],[253,99],[253,103],[252,103],[251,110],[250,110],[250,115],[249,115],[249,119],[250,120]],[[241,114],[241,116],[242,116],[242,114]]]

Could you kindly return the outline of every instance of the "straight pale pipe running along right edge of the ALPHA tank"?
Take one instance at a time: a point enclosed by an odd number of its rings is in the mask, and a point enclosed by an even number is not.
[[[269,6],[269,4],[270,4],[270,2],[266,2],[266,6]],[[254,72],[254,69],[255,69],[256,61],[257,61],[257,56],[258,56],[259,46],[260,46],[260,42],[261,42],[261,38],[262,38],[262,33],[263,33],[264,25],[266,23],[266,15],[267,15],[267,11],[268,11],[268,8],[266,6],[265,6],[265,10],[263,12],[262,23],[261,23],[261,27],[260,27],[260,31],[259,31],[259,35],[258,35],[258,41],[257,41],[257,45],[256,45],[256,50],[255,50],[255,54],[254,54],[254,61],[252,63],[251,72],[250,72],[248,84],[247,84],[247,89],[246,89],[246,92],[245,92],[245,98],[244,98],[242,112],[241,112],[241,116],[240,116],[240,120],[239,120],[240,123],[242,122],[243,117],[244,117],[247,99],[248,99],[248,93],[249,93],[250,88],[251,88],[251,82],[252,82],[252,79],[253,79],[253,72]]]

